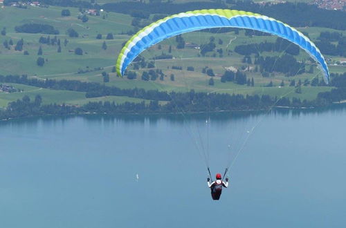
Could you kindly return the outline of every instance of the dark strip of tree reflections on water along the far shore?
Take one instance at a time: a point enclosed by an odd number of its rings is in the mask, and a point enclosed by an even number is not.
[[[78,117],[83,117],[88,122],[95,122],[97,124],[113,124],[115,121],[122,121],[126,123],[145,123],[149,122],[150,124],[155,124],[159,120],[165,120],[168,122],[176,123],[176,124],[184,124],[186,121],[194,120],[194,121],[205,121],[206,119],[210,119],[216,122],[223,122],[225,120],[238,120],[238,119],[246,119],[248,117],[258,117],[262,115],[279,115],[282,117],[300,117],[301,115],[320,115],[323,113],[338,113],[339,111],[343,111],[346,108],[346,104],[335,104],[329,107],[323,108],[273,108],[272,110],[264,110],[264,111],[235,111],[235,112],[217,112],[217,113],[193,113],[188,114],[184,113],[183,115],[180,113],[177,114],[167,114],[167,115],[77,115]],[[76,115],[68,115],[68,116],[46,116],[46,117],[27,117],[23,119],[15,119],[10,121],[1,121],[0,127],[10,124],[11,126],[19,126],[19,127],[35,127],[38,122],[42,122],[42,124],[47,124],[47,126],[54,126],[55,124],[64,124],[66,120],[71,120],[75,118]]]

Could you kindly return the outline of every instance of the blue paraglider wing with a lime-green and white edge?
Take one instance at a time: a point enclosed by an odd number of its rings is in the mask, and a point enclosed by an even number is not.
[[[281,21],[253,12],[222,9],[182,12],[178,15],[165,17],[143,28],[131,37],[122,48],[116,63],[117,73],[122,76],[131,61],[143,50],[163,39],[185,32],[221,27],[248,28],[268,32],[297,44],[318,62],[324,73],[325,82],[328,84],[329,70],[325,58],[315,44],[301,32]]]

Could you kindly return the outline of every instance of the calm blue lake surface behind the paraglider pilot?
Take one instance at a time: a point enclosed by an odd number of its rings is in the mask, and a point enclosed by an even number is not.
[[[345,126],[346,109],[0,122],[0,227],[346,227]],[[212,201],[205,162],[228,155]]]

